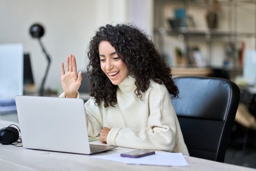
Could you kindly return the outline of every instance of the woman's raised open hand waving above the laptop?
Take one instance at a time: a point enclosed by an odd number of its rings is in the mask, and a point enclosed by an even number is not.
[[[64,70],[64,64],[61,63],[61,85],[62,89],[68,98],[76,98],[77,91],[81,85],[82,73],[81,71],[77,75],[76,71],[76,58],[72,54],[67,57],[66,71]]]

